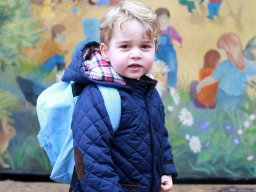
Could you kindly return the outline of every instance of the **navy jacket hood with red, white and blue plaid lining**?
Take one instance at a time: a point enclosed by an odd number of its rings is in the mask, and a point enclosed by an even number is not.
[[[62,81],[98,83],[116,88],[126,88],[126,81],[103,59],[96,41],[85,44],[77,52],[64,72]]]

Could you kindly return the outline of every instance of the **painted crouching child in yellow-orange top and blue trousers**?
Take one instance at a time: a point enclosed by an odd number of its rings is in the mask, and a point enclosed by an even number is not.
[[[61,49],[59,43],[66,40],[67,31],[63,25],[54,25],[51,28],[51,40],[46,41],[39,62],[46,72],[51,72],[55,66],[57,70],[65,69],[65,55],[68,51]]]

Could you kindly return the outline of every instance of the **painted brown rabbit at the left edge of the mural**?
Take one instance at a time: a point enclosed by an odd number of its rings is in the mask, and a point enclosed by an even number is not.
[[[9,145],[9,140],[16,135],[15,128],[8,123],[7,118],[0,119],[0,165],[6,169],[10,168],[10,165],[4,162],[1,154],[3,154]]]

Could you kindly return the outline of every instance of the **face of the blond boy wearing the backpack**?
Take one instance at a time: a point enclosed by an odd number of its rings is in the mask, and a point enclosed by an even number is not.
[[[108,46],[101,43],[103,58],[121,76],[139,79],[148,73],[155,58],[155,43],[142,37],[143,25],[135,19],[122,23],[122,30],[114,27]]]

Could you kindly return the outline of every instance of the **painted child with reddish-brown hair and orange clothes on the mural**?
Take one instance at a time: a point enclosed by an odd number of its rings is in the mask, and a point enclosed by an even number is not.
[[[199,81],[210,76],[216,66],[220,63],[220,53],[214,49],[207,51],[204,57],[203,68],[199,72]],[[218,91],[218,83],[213,83],[212,85],[205,86],[200,92],[195,96],[195,106],[202,109],[213,109],[215,108],[215,97]]]

